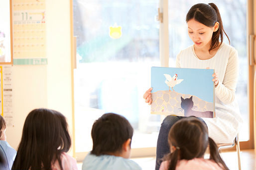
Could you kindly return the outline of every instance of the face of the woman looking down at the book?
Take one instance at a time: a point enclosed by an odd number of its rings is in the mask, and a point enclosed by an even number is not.
[[[214,27],[208,27],[200,22],[197,22],[195,19],[190,19],[187,24],[188,35],[194,42],[195,47],[199,49],[210,49]]]

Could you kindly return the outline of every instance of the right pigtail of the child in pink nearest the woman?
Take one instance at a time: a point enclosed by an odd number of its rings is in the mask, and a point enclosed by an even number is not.
[[[210,148],[210,159],[215,161],[219,166],[222,165],[222,167],[224,168],[224,170],[229,170],[229,168],[226,166],[226,164],[224,163],[224,161],[222,160],[220,153],[219,153],[219,149],[218,146],[216,145],[216,143],[214,142],[214,140],[212,138],[208,138],[209,141],[209,148]],[[221,166],[220,166],[221,167]],[[175,170],[175,169],[174,169]]]

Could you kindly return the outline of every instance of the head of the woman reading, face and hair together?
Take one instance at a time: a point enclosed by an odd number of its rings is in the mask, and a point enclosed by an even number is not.
[[[219,46],[219,39],[223,42],[223,28],[221,15],[214,3],[198,3],[193,5],[186,16],[188,35],[197,48],[210,45],[209,52]],[[229,39],[228,35],[226,34]]]

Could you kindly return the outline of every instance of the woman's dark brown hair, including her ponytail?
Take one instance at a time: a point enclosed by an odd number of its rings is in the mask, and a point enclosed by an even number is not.
[[[222,44],[223,32],[229,39],[223,28],[219,9],[214,3],[198,3],[193,5],[187,13],[186,22],[188,22],[190,19],[195,19],[197,22],[200,22],[208,27],[214,27],[215,23],[219,22],[219,29],[216,32],[213,32],[212,43],[209,52]],[[219,43],[220,37],[221,43]]]

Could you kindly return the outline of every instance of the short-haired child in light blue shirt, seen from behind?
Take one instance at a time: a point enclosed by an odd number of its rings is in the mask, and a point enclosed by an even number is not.
[[[93,149],[82,170],[141,170],[129,160],[133,129],[128,120],[115,113],[103,114],[92,127]]]

